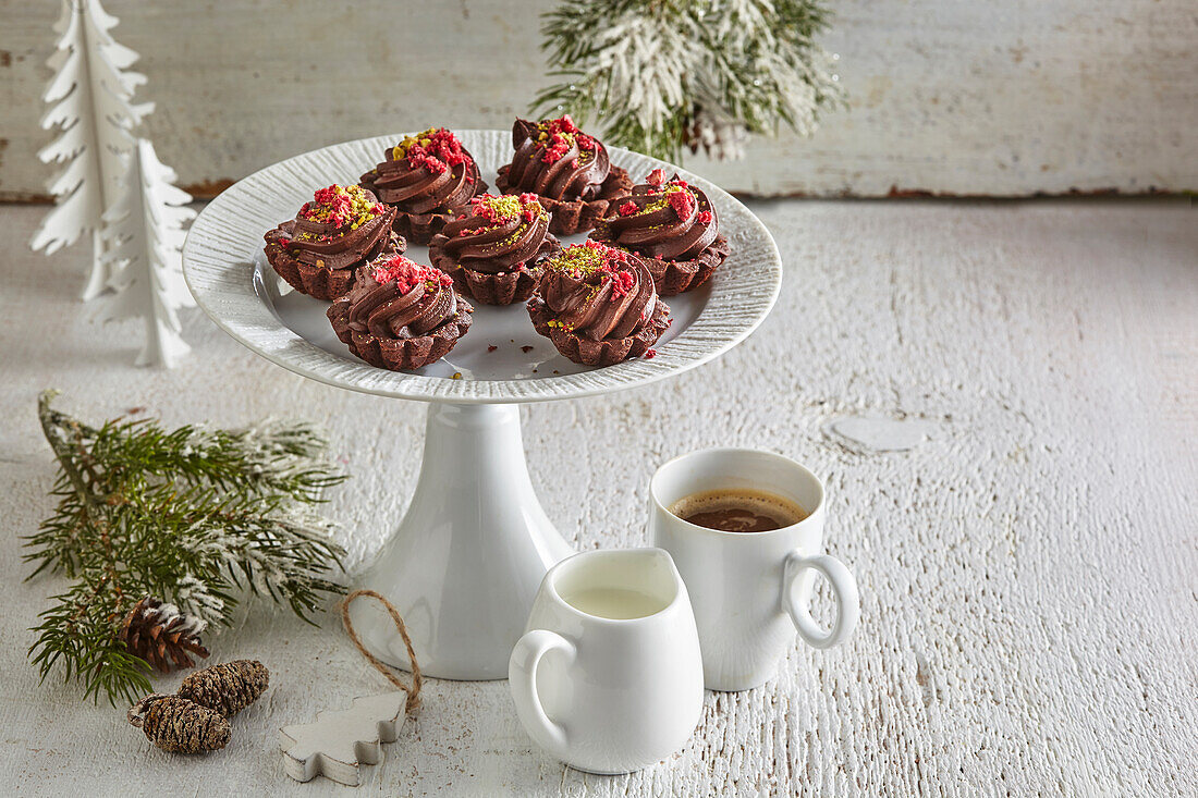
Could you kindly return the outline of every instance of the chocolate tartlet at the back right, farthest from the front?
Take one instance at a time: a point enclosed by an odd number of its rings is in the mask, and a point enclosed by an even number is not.
[[[607,149],[580,131],[569,115],[512,126],[512,163],[500,167],[496,187],[504,194],[540,197],[552,216],[549,229],[569,236],[586,232],[633,187],[628,173],[611,165]]]

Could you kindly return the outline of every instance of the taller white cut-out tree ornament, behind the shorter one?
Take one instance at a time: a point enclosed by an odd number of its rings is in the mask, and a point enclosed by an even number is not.
[[[47,188],[56,205],[42,222],[30,246],[53,254],[85,232],[92,238],[92,266],[83,298],[99,295],[111,277],[103,255],[102,220],[117,194],[123,156],[133,147],[131,131],[153,110],[153,103],[133,104],[145,75],[126,69],[138,54],[108,32],[116,17],[99,0],[62,0],[54,32],[59,41],[47,64],[54,78],[42,99],[50,109],[42,128],[61,131],[37,153],[43,163],[63,164]]]

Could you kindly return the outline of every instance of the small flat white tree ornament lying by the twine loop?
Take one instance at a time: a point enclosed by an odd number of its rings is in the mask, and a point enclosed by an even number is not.
[[[355,699],[349,709],[325,711],[311,724],[279,730],[283,764],[296,781],[317,775],[356,787],[362,764],[382,757],[380,743],[394,743],[404,725],[407,694],[403,690]]]

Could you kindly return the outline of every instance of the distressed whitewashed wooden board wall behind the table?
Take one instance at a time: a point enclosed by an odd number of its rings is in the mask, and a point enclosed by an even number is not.
[[[508,127],[546,84],[550,0],[107,0],[143,54],[146,125],[181,183],[431,125]],[[1192,0],[833,0],[852,108],[810,140],[689,169],[757,194],[1025,195],[1198,189]],[[34,153],[58,2],[0,0],[0,199]]]

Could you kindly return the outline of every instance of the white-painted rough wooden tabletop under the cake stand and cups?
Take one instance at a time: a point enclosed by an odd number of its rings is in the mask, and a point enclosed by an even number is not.
[[[827,477],[829,549],[861,587],[854,639],[795,646],[750,693],[708,694],[688,748],[619,778],[532,746],[507,685],[426,683],[359,794],[1198,793],[1198,214],[1187,201],[758,202],[787,265],[761,331],[716,363],[526,409],[545,509],[579,548],[643,543],[654,466],[760,446]],[[338,625],[255,605],[211,637],[272,687],[228,749],[153,749],[123,708],[37,685],[25,660],[60,580],[24,584],[50,509],[35,400],[176,424],[327,424],[352,564],[411,491],[417,404],[307,382],[196,314],[177,371],[131,365],[135,322],[75,301],[79,249],[25,250],[44,208],[0,208],[0,791],[326,794],[283,774],[276,730],[381,691]],[[393,448],[355,430],[398,427]],[[179,676],[162,679],[174,689]]]

